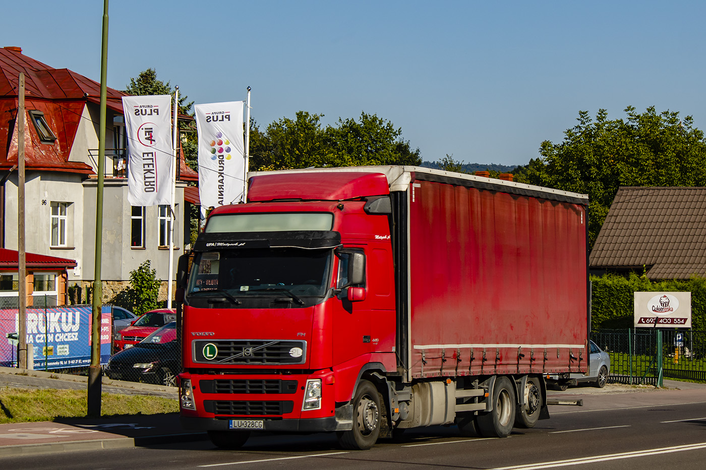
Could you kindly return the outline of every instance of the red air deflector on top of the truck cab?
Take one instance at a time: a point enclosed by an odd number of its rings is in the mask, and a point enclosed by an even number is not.
[[[389,193],[387,176],[381,173],[302,171],[253,176],[248,200],[348,200]]]

